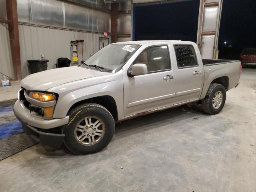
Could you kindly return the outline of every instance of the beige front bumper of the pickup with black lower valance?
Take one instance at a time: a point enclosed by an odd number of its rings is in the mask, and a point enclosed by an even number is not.
[[[22,123],[22,129],[26,134],[43,145],[59,148],[64,140],[64,134],[50,133],[50,129],[68,124],[69,116],[65,118],[44,120],[30,114],[23,101],[16,101],[13,109],[14,115]]]

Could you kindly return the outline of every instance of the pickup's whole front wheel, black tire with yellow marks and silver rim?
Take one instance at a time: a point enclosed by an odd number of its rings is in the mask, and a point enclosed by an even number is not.
[[[104,149],[115,130],[114,118],[103,106],[88,103],[72,109],[64,126],[64,143],[76,154],[91,154]]]

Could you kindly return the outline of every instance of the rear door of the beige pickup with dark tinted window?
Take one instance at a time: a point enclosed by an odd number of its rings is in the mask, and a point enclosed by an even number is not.
[[[203,83],[202,64],[198,64],[192,44],[174,44],[173,48],[176,56],[174,104],[196,100],[200,96]]]

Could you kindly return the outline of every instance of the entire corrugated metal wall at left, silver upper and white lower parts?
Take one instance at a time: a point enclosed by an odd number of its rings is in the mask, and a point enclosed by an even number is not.
[[[104,11],[95,7],[96,1],[77,2],[91,3],[94,7],[61,0],[17,0],[22,78],[28,75],[26,60],[41,59],[44,55],[50,60],[48,69],[52,69],[57,58],[70,59],[71,40],[84,40],[84,60],[99,50],[99,37],[110,32],[109,4],[98,0],[98,7],[107,9]],[[5,0],[0,0],[0,19],[7,19]],[[7,26],[0,23],[0,72],[14,78]]]

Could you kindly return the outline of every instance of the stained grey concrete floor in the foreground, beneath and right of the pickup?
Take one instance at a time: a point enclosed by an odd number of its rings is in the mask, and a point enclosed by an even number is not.
[[[199,106],[116,125],[97,154],[37,144],[0,162],[1,191],[256,191],[256,69],[244,69],[220,114]]]

